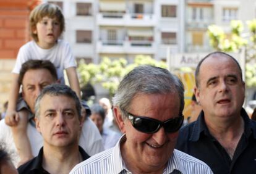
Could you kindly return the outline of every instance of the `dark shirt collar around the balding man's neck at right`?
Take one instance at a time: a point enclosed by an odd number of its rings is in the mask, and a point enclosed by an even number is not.
[[[256,123],[250,120],[250,118],[248,117],[247,113],[243,108],[241,109],[241,116],[244,119],[244,127],[245,127],[244,134],[246,138],[249,138],[249,136],[253,133],[254,138],[256,139],[256,126],[255,126]],[[200,136],[203,136],[203,135],[206,135],[212,138],[207,128],[207,125],[205,124],[205,114],[202,111],[200,112],[197,120],[194,122],[193,130],[189,140],[198,141]]]

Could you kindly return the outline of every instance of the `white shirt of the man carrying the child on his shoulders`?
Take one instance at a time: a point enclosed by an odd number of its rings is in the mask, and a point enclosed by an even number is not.
[[[30,122],[27,126],[27,135],[32,147],[32,154],[36,156],[43,146],[43,137]],[[0,141],[6,144],[7,151],[11,153],[12,162],[17,166],[20,158],[14,144],[14,139],[12,138],[11,128],[6,125],[4,119],[0,121]],[[90,118],[87,118],[83,123],[79,145],[90,156],[104,151],[100,132]]]

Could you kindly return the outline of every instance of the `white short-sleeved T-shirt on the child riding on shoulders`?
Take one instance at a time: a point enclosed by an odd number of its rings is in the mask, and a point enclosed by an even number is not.
[[[50,49],[42,49],[35,41],[24,44],[18,53],[17,60],[12,73],[20,73],[22,64],[27,60],[49,60],[56,67],[58,78],[64,84],[64,69],[76,67],[75,58],[72,54],[69,43],[63,40],[58,42]]]

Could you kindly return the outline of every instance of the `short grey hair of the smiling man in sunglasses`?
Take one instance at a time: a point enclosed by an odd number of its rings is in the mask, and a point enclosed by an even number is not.
[[[166,94],[177,93],[179,96],[179,114],[184,109],[184,86],[168,70],[151,65],[142,65],[134,68],[121,81],[113,97],[113,105],[117,106],[127,115],[130,102],[136,94]],[[124,117],[124,116],[123,116]]]

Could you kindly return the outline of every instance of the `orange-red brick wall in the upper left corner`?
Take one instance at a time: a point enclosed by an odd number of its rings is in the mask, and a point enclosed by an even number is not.
[[[0,59],[15,59],[29,40],[28,15],[40,0],[0,0]]]

